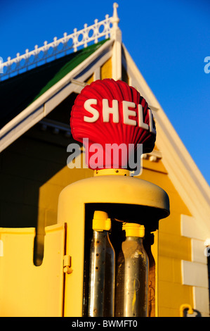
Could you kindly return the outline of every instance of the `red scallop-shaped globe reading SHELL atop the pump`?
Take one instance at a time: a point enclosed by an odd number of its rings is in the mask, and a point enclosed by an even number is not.
[[[143,96],[121,80],[96,80],[84,87],[72,107],[70,125],[73,138],[86,145],[88,168],[93,168],[89,161],[96,146],[102,155],[97,168],[129,168],[131,149],[122,154],[117,166],[113,157],[107,166],[105,146],[108,144],[133,144],[135,151],[138,144],[143,144],[143,153],[149,153],[155,146],[152,111]]]

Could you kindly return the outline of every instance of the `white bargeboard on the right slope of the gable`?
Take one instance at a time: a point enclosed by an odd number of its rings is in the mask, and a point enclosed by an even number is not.
[[[153,111],[157,126],[157,146],[161,146],[162,162],[169,173],[171,182],[185,201],[192,216],[196,218],[197,222],[205,223],[204,227],[209,232],[209,234],[206,233],[206,236],[209,237],[210,187],[133,62],[126,47],[124,45],[123,47],[125,54],[123,63],[129,77],[131,77],[130,84],[145,97]]]

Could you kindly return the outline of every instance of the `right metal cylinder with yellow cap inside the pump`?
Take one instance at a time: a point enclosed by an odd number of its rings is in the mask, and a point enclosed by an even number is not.
[[[143,237],[132,232],[126,234],[117,260],[116,317],[147,317],[148,269]]]

